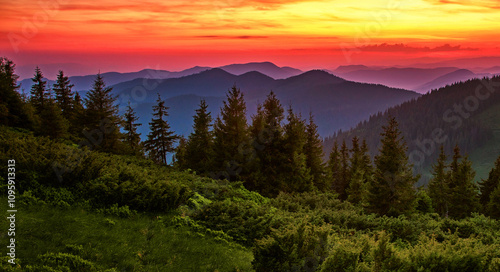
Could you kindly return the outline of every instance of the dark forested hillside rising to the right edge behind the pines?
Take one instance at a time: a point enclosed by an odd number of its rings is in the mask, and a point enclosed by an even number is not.
[[[474,165],[482,165],[477,168],[476,180],[480,180],[486,177],[486,169],[492,167],[489,159],[498,156],[498,152],[491,156],[479,155],[478,152],[489,150],[488,153],[495,153],[498,150],[495,128],[500,122],[496,114],[500,104],[500,92],[496,91],[499,84],[500,77],[497,76],[491,81],[473,79],[440,88],[384,113],[372,115],[351,130],[336,133],[325,140],[325,151],[329,153],[335,141],[350,142],[358,136],[367,140],[374,155],[381,127],[392,115],[400,123],[416,172],[424,174],[422,182],[428,179],[430,165],[435,162],[441,144],[447,154],[451,154],[455,145],[471,154]]]

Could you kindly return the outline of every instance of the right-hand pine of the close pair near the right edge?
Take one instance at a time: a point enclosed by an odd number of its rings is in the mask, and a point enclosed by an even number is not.
[[[465,156],[461,162],[460,149],[455,147],[450,173],[450,208],[449,215],[465,218],[479,208],[479,196],[474,183],[475,172],[472,163]]]

